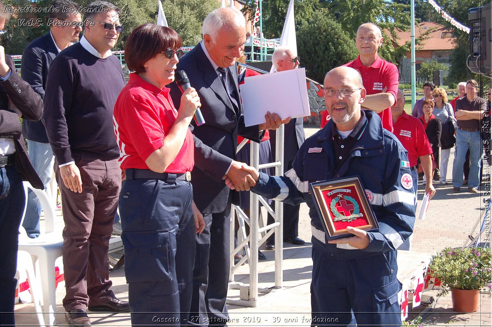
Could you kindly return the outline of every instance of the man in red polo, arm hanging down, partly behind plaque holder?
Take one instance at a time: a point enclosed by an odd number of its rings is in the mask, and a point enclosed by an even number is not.
[[[412,117],[403,111],[405,106],[405,97],[403,91],[398,89],[397,103],[391,107],[391,115],[393,119],[393,133],[400,140],[403,147],[408,151],[408,162],[401,162],[401,165],[410,165],[410,174],[412,176],[412,185],[417,194],[417,157],[420,158],[424,174],[426,176],[425,194],[430,193],[430,199],[435,194],[434,186],[432,185],[432,160],[431,144],[426,135],[424,124],[418,118]],[[407,187],[408,183],[403,183],[402,186]],[[415,197],[415,210],[417,209],[417,197]],[[411,250],[412,236],[400,245],[399,250]]]

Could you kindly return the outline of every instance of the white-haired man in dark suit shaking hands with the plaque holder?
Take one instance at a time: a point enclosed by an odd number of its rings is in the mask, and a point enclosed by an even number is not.
[[[278,115],[268,113],[266,123],[245,127],[236,69],[245,42],[246,21],[241,11],[218,8],[203,22],[203,41],[178,63],[198,91],[205,119],[205,124],[192,122],[191,126],[195,140],[193,198],[206,222],[196,238],[191,325],[224,326],[228,318],[229,213],[231,203],[239,205],[239,193],[229,193],[222,179],[230,178],[236,190],[249,190],[249,175],[234,160],[237,135],[259,142],[262,130],[275,129],[282,122]],[[178,107],[182,93],[175,84],[170,87]]]

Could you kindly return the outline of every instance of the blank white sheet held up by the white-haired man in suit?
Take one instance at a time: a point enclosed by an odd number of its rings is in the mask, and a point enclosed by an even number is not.
[[[246,126],[264,123],[267,111],[282,119],[310,115],[305,68],[249,76],[240,88]]]

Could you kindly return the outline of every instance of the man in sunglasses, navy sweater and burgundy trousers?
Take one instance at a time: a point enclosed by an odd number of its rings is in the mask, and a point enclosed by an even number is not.
[[[87,309],[130,310],[109,289],[108,263],[122,180],[113,108],[125,80],[111,53],[122,30],[120,9],[106,1],[89,9],[80,42],[53,60],[44,97],[43,122],[63,201],[63,307],[70,326],[90,326]]]

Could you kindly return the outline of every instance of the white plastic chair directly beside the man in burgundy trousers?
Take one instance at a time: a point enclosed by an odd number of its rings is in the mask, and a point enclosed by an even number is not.
[[[36,276],[41,282],[43,291],[43,309],[47,326],[56,325],[56,295],[55,295],[55,260],[62,256],[62,233],[55,232],[55,208],[44,190],[24,182],[26,192],[30,188],[39,199],[44,211],[45,232],[38,238],[29,238],[26,230],[19,228],[19,250],[28,252],[36,263]],[[23,217],[24,219],[24,217]]]

